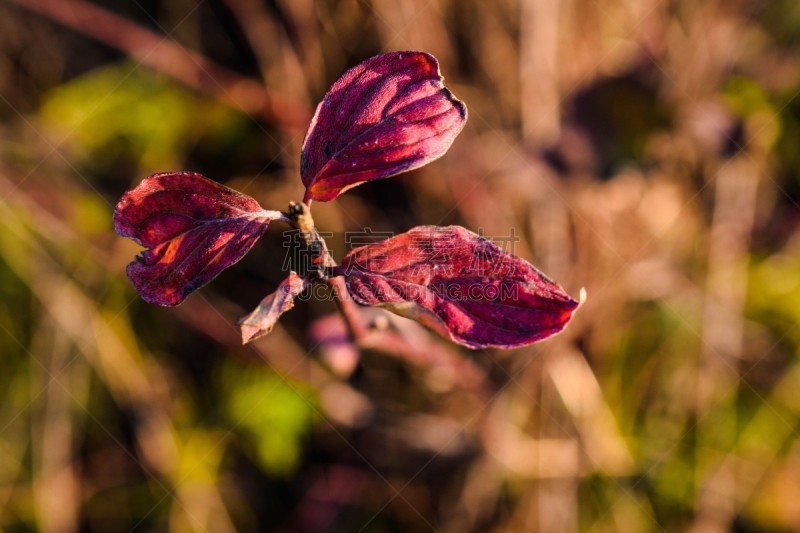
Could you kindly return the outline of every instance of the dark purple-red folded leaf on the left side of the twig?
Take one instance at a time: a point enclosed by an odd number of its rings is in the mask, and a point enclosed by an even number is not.
[[[122,196],[114,226],[147,248],[128,265],[141,297],[178,305],[241,259],[281,216],[200,174],[164,172]]]

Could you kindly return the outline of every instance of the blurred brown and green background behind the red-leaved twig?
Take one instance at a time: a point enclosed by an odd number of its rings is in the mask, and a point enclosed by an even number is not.
[[[278,223],[138,298],[124,191],[187,169],[285,209],[328,86],[403,49],[469,120],[314,204],[334,256],[515,241],[586,288],[562,334],[471,352],[365,312],[354,346],[309,300],[242,347]],[[796,0],[0,0],[0,529],[800,531],[799,94]]]

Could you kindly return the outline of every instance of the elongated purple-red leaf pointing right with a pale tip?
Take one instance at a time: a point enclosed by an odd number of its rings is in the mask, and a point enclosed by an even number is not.
[[[561,331],[578,302],[530,263],[460,226],[419,226],[356,248],[334,271],[362,305],[413,318],[470,348]]]

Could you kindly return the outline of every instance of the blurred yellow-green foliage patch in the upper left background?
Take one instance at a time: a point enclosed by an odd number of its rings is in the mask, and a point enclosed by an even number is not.
[[[229,107],[127,61],[57,86],[40,116],[83,160],[123,158],[145,169],[176,167],[204,135],[220,141],[247,124]]]

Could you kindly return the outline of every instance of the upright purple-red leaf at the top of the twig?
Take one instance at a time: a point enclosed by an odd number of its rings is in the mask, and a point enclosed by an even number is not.
[[[433,56],[391,52],[367,59],[317,106],[300,162],[305,201],[327,202],[365,181],[433,161],[466,119],[466,106],[445,88]]]

